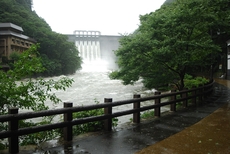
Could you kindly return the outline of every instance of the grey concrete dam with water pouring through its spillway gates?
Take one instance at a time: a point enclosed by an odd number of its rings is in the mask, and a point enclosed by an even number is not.
[[[114,51],[119,47],[122,36],[101,35],[100,31],[75,30],[68,34],[68,41],[74,42],[85,63],[106,62],[107,69],[116,69]]]

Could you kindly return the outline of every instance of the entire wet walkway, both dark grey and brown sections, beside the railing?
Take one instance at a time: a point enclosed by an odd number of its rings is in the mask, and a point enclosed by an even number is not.
[[[226,154],[230,153],[229,81],[218,80],[202,106],[168,112],[160,118],[112,132],[76,137],[72,142],[20,153],[33,154]],[[229,84],[230,85],[230,84]],[[229,86],[230,87],[230,86]]]

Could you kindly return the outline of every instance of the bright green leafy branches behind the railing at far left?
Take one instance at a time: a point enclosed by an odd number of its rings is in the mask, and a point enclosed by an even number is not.
[[[0,115],[7,114],[11,107],[28,111],[47,110],[49,107],[45,104],[45,101],[50,100],[54,104],[61,101],[52,90],[65,90],[72,85],[73,79],[67,77],[60,77],[58,80],[31,78],[34,73],[45,70],[37,48],[38,45],[33,45],[27,51],[19,54],[17,60],[12,63],[12,70],[8,72],[0,70]],[[48,124],[51,121],[52,117],[43,117],[43,120],[38,123],[20,121],[19,127]],[[7,123],[0,123],[0,130],[7,130]],[[37,143],[41,140],[51,139],[53,135],[54,133],[51,131],[41,132],[23,136],[20,141],[22,141],[22,144]],[[3,145],[0,143],[0,149]]]

